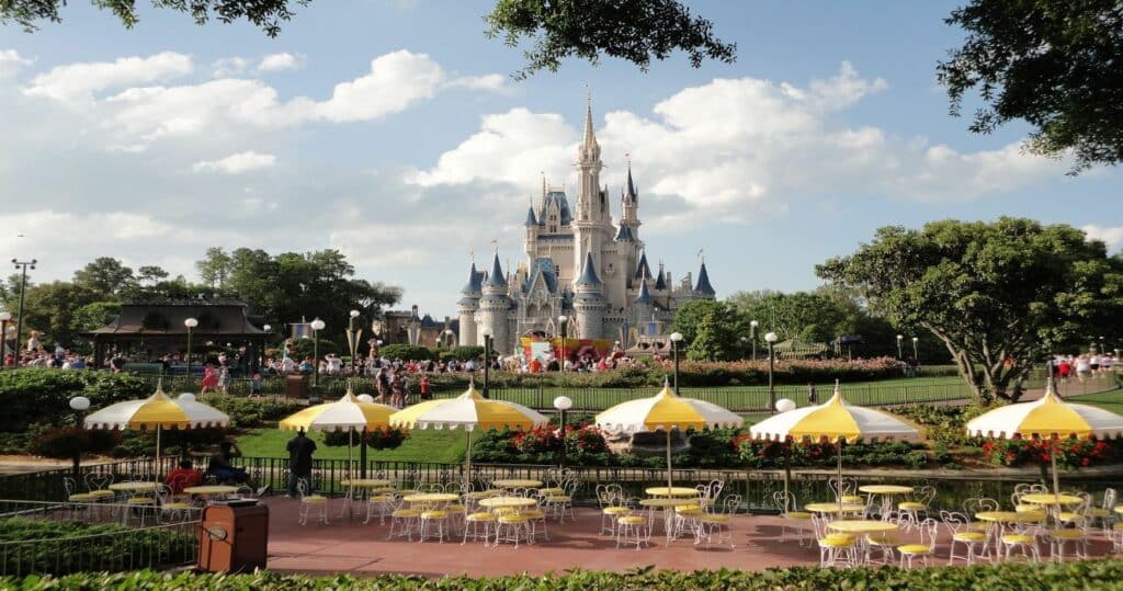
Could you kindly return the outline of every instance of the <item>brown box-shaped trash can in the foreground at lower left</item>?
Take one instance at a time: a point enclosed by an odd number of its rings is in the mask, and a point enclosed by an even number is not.
[[[199,569],[236,573],[265,569],[268,556],[270,508],[253,504],[210,504],[199,531]]]

